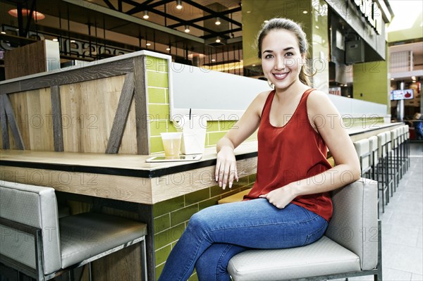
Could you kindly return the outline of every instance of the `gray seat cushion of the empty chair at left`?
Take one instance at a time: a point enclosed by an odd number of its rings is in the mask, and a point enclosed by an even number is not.
[[[62,268],[147,235],[145,223],[101,213],[80,213],[59,220]]]

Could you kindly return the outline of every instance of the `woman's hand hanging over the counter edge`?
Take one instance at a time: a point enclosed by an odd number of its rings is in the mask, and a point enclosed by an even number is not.
[[[217,154],[214,176],[216,182],[219,182],[219,187],[223,187],[223,189],[226,188],[227,183],[231,188],[234,179],[238,182],[236,159],[231,147],[223,146]]]

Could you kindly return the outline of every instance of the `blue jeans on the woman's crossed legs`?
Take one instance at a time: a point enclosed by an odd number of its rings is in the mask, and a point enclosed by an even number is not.
[[[281,249],[317,241],[328,223],[295,204],[278,209],[266,199],[216,205],[195,213],[173,247],[160,281],[230,280],[229,260],[247,249]]]

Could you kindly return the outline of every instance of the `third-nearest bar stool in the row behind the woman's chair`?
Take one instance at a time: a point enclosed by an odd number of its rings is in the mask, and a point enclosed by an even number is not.
[[[378,158],[379,165],[377,166],[378,171],[378,182],[380,182],[380,191],[382,193],[382,202],[384,205],[389,203],[389,185],[388,185],[388,169],[386,168],[386,158],[387,158],[387,146],[386,146],[386,134],[381,132],[376,135],[377,137],[377,146],[378,146]]]

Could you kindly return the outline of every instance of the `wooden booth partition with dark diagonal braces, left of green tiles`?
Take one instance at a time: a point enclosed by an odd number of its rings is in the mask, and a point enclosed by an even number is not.
[[[149,154],[146,57],[2,83],[1,148]]]

